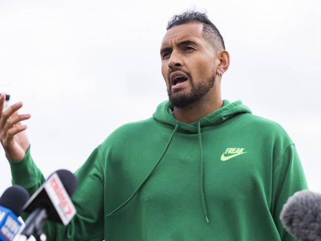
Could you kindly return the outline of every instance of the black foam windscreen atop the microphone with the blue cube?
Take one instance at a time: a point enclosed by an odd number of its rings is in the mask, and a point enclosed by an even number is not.
[[[20,216],[23,205],[28,201],[29,193],[26,189],[13,185],[7,188],[0,197],[0,206],[10,209],[14,214]]]

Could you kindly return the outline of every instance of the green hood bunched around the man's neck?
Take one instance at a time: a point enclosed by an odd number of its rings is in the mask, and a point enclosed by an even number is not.
[[[194,121],[192,123],[185,123],[178,121],[174,118],[172,114],[172,105],[169,100],[162,102],[156,109],[156,112],[153,114],[153,117],[159,123],[165,126],[171,126],[175,128],[176,124],[179,123],[179,128],[177,131],[188,132],[188,133],[198,133],[198,122],[201,121],[201,129],[207,130],[216,128],[222,124],[225,124],[227,121],[233,119],[238,114],[242,113],[252,113],[250,109],[243,105],[241,100],[231,103],[228,100],[223,100],[223,106],[212,112],[211,114],[202,117],[201,119]]]

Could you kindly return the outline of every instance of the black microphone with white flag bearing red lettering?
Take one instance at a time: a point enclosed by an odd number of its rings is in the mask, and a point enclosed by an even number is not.
[[[43,238],[42,227],[46,220],[67,225],[76,214],[76,208],[70,197],[77,187],[77,179],[68,170],[57,170],[40,186],[27,201],[23,209],[31,213],[21,232],[25,240],[34,235],[37,240]]]

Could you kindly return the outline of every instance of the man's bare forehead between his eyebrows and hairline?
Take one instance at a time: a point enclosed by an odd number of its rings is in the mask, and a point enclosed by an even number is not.
[[[161,47],[170,45],[172,41],[200,40],[202,39],[203,25],[201,23],[188,23],[176,25],[167,30],[161,41]]]

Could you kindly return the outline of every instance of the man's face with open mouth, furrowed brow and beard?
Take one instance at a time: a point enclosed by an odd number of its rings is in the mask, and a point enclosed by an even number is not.
[[[185,107],[206,95],[215,81],[215,50],[201,23],[170,28],[161,42],[161,74],[170,102]]]

